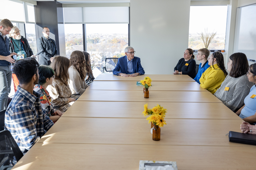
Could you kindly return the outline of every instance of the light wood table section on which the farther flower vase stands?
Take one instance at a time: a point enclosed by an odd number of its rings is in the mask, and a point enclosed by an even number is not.
[[[145,99],[143,90],[85,90],[77,101],[222,103],[209,91],[150,91],[149,93],[149,98]]]

